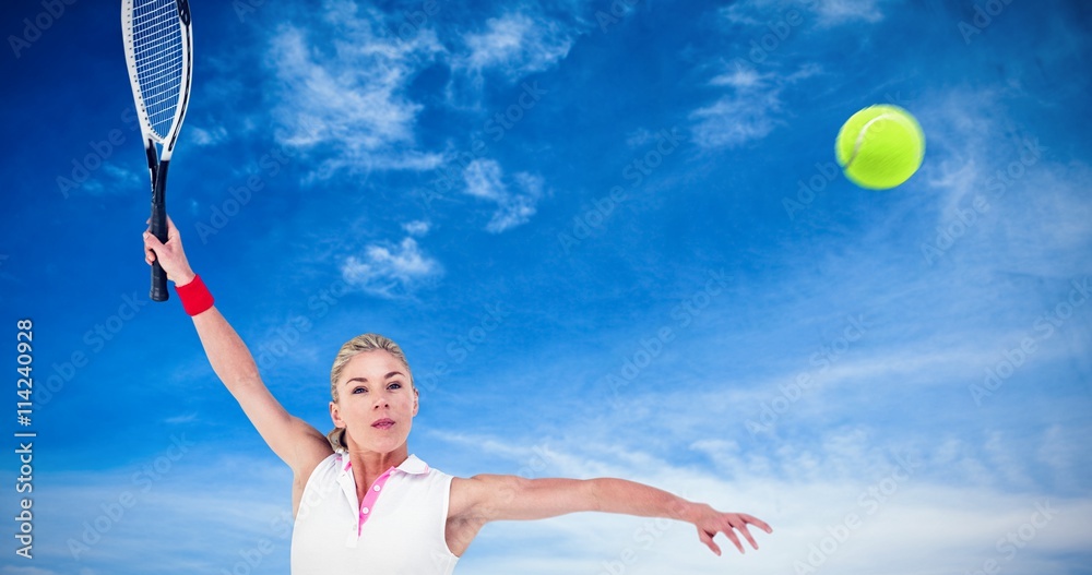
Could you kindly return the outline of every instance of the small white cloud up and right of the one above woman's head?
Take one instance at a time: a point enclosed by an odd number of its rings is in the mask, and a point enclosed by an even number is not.
[[[463,170],[466,194],[497,204],[497,211],[486,225],[490,233],[522,226],[535,215],[543,195],[543,179],[523,172],[515,173],[512,179],[518,191],[509,190],[500,164],[491,159],[475,159]]]

